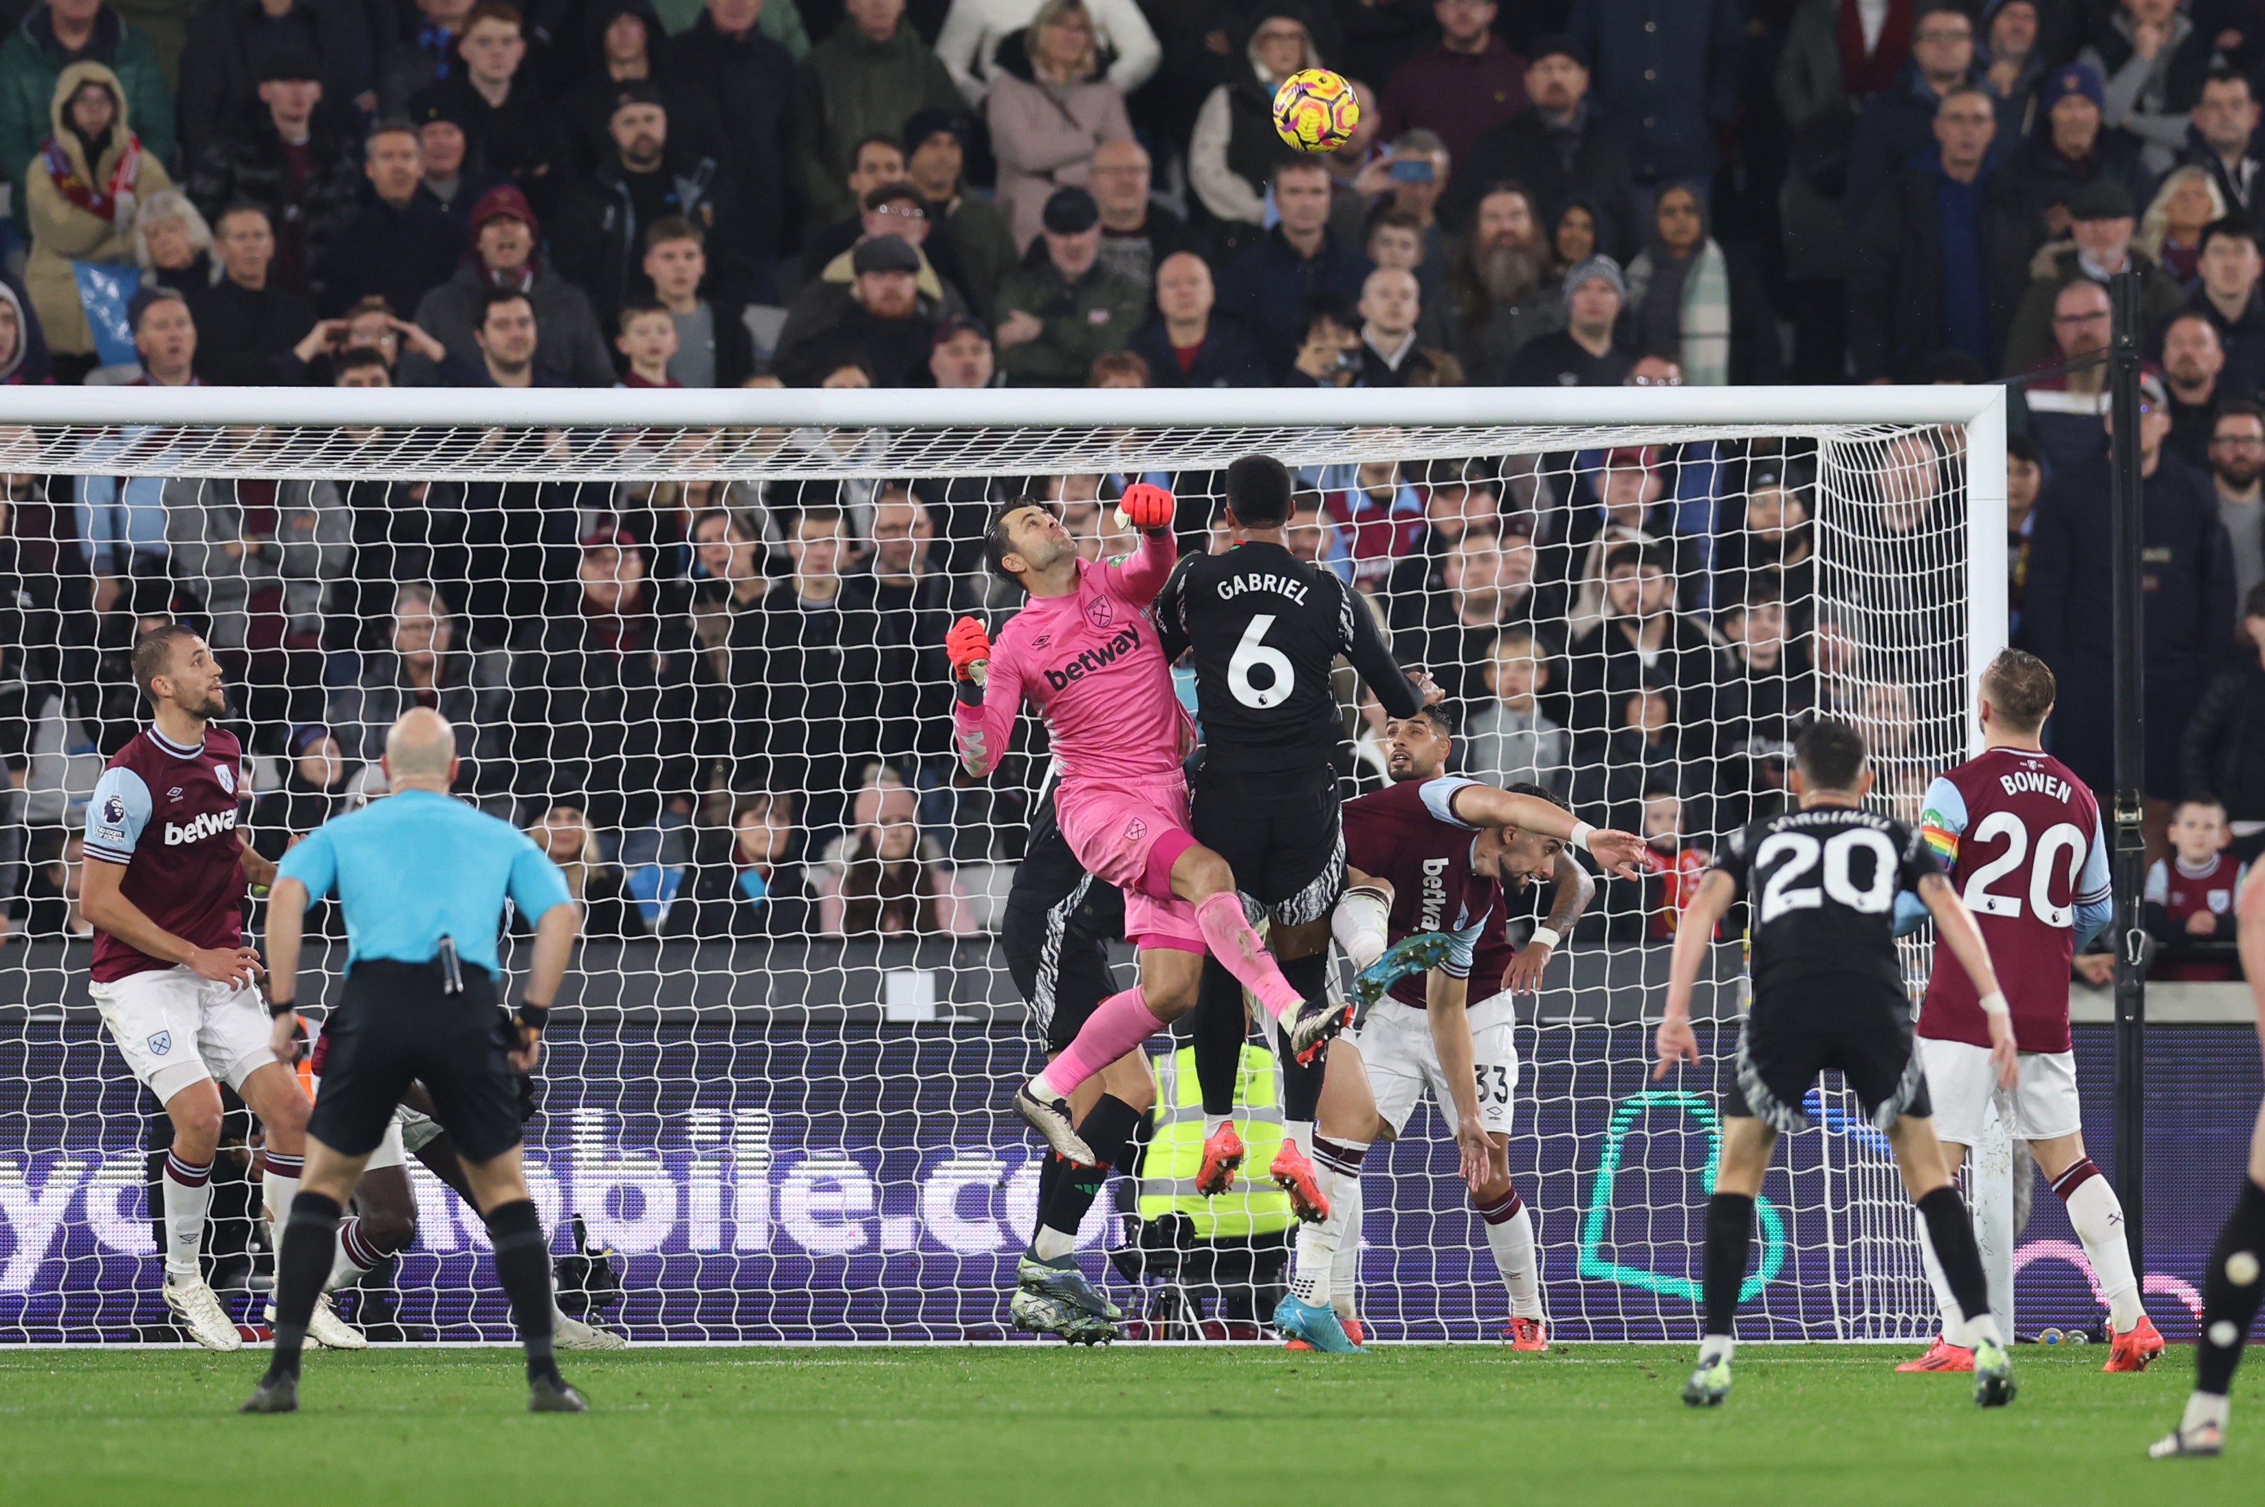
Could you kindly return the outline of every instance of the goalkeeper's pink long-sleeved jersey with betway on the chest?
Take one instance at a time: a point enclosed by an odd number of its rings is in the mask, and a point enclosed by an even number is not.
[[[1078,562],[1069,596],[1033,596],[992,641],[983,705],[951,712],[960,764],[988,775],[1022,700],[1046,718],[1065,780],[1180,773],[1194,723],[1171,687],[1148,603],[1178,555],[1171,530],[1142,535],[1121,562]]]

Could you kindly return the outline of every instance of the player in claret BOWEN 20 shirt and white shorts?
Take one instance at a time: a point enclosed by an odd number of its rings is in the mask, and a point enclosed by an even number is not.
[[[2077,1104],[2077,1058],[2068,1036],[2068,959],[2109,925],[2109,845],[2100,802],[2038,734],[2052,716],[2052,671],[2036,655],[2002,650],[1982,673],[1984,750],[1928,789],[1921,832],[1950,870],[1991,961],[2005,970],[2020,1085],[2011,1097],[2014,1133],[2029,1142],[2036,1169],[2068,1206],[2084,1255],[2109,1305],[2109,1362],[2102,1371],[2145,1371],[2163,1353],[2140,1308],[2138,1274],[2125,1244],[2122,1203],[2084,1153]],[[1907,925],[1921,906],[1905,897]],[[1946,1169],[1957,1176],[1982,1133],[1993,1097],[1991,1033],[1975,986],[1955,965],[1948,938],[1934,945],[1934,977],[1918,1008],[1918,1056],[1928,1065],[1934,1133]],[[1943,1280],[1941,1262],[1918,1226],[1928,1280],[1943,1333],[1925,1355],[1898,1371],[1971,1371],[1973,1355],[1950,1342],[1966,1319]]]

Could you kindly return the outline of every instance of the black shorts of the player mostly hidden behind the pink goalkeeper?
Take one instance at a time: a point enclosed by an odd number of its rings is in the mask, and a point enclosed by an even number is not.
[[[999,927],[1006,968],[1031,1002],[1031,1024],[1049,1056],[1076,1040],[1094,1008],[1117,993],[1110,943],[1123,929],[1123,893],[1085,872],[1069,852],[1049,791],[1031,816],[1031,845],[1015,868]]]

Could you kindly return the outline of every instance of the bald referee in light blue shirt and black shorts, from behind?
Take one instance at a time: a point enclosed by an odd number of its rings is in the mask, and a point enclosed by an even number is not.
[[[270,1006],[281,1061],[297,1056],[292,990],[306,909],[337,891],[347,988],[331,1013],[306,1176],[276,1258],[274,1360],[242,1412],[299,1410],[299,1351],[331,1274],[337,1217],[410,1079],[433,1095],[496,1246],[496,1278],[528,1346],[528,1412],[587,1412],[550,1355],[550,1242],[519,1165],[519,1072],[573,952],[578,913],[557,866],[510,823],[448,795],[455,730],[414,709],[385,734],[392,798],[310,832],[283,854],[267,904]],[[516,1024],[496,993],[510,897],[535,920]]]

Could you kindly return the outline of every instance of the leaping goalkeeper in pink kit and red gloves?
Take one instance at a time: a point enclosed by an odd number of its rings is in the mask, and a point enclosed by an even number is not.
[[[1001,505],[983,548],[994,571],[1031,601],[992,644],[983,623],[960,619],[947,637],[958,684],[954,709],[960,764],[992,770],[1028,698],[1053,732],[1062,764],[1055,795],[1062,836],[1087,872],[1126,895],[1126,938],[1139,950],[1139,984],[1094,1008],[1078,1038],[1015,1095],[1015,1108],[1058,1156],[1094,1163],[1078,1138],[1069,1095],[1137,1049],[1196,1004],[1210,952],[1284,1022],[1291,1052],[1309,1056],[1336,1036],[1348,1011],[1307,1006],[1243,918],[1234,872],[1187,825],[1194,725],[1173,693],[1171,666],[1148,605],[1171,573],[1173,499],[1146,483],[1128,487],[1126,517],[1142,546],[1094,564],[1046,508]]]

